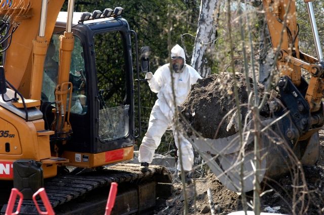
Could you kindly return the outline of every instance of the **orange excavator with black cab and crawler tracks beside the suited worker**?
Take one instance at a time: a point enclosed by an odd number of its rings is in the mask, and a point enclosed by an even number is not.
[[[114,213],[143,211],[171,181],[161,166],[143,174],[138,165],[116,164],[133,158],[140,131],[139,81],[139,122],[134,119],[136,32],[121,17],[121,7],[73,13],[69,0],[68,11],[60,12],[63,3],[0,3],[1,196],[9,198],[8,188],[18,188],[24,195],[21,214],[34,214],[31,196],[45,187],[57,214],[98,214],[107,197],[102,191],[117,182],[125,186],[118,186]],[[109,164],[116,165],[104,167]],[[82,206],[80,197],[86,199]]]

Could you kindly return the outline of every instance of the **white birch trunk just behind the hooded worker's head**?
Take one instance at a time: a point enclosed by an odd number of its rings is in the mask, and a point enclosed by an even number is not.
[[[198,28],[194,42],[191,66],[201,77],[211,73],[212,53],[217,37],[219,16],[218,0],[201,0],[198,19]]]

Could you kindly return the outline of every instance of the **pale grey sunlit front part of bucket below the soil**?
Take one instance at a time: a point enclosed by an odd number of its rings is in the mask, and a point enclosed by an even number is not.
[[[250,127],[252,122],[248,123],[247,127]],[[224,186],[235,192],[253,190],[254,135],[250,131],[242,134],[242,142],[238,134],[220,139],[191,135],[188,140]],[[265,148],[263,142],[260,145],[261,149]],[[260,151],[264,155],[266,150]],[[260,164],[258,178],[261,181],[265,174],[266,159],[262,159]]]

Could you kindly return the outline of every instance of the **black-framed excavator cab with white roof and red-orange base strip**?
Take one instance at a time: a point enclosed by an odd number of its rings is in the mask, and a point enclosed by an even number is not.
[[[131,36],[123,18],[80,22],[73,14],[69,82],[72,83],[70,123],[73,134],[61,144],[51,137],[55,156],[69,164],[95,167],[133,157],[134,100]],[[60,34],[66,26],[60,12],[44,64],[42,112],[48,130],[55,130],[55,87],[58,76]],[[69,100],[69,97],[68,97]],[[52,150],[53,153],[53,150]]]

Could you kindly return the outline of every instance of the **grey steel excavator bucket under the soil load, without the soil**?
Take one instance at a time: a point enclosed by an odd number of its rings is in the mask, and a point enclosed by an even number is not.
[[[292,146],[280,135],[278,122],[273,121],[275,119],[261,122],[257,150],[259,182],[288,173],[299,160],[302,164],[313,165],[319,158],[317,132]],[[242,134],[242,143],[238,134],[214,140],[196,135],[188,138],[220,182],[234,192],[248,192],[254,188],[256,167],[252,122],[248,123],[247,132]]]

